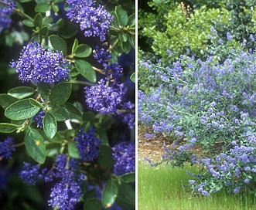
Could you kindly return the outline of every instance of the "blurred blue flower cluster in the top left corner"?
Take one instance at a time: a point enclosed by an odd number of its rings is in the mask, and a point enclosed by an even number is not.
[[[9,28],[12,22],[10,15],[15,7],[15,3],[9,0],[3,0],[2,2],[9,4],[9,6],[0,5],[0,32]]]

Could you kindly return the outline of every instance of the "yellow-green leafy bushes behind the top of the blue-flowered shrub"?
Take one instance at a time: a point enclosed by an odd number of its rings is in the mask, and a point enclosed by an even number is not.
[[[234,41],[242,42],[256,29],[256,9],[251,0],[153,0],[148,7],[145,3],[139,7],[138,14],[138,36],[146,43],[140,46],[152,50],[164,63],[172,62],[186,49],[197,58],[206,58],[210,52],[207,36],[211,26],[224,42],[227,32],[234,36]],[[171,57],[167,50],[172,52]]]

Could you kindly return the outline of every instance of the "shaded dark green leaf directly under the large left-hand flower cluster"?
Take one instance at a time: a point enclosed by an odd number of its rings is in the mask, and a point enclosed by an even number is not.
[[[71,90],[71,83],[58,83],[53,86],[49,99],[53,104],[63,104],[70,98]]]

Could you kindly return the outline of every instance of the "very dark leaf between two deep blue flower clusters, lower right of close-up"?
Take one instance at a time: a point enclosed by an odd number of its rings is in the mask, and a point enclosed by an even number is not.
[[[101,165],[102,168],[111,169],[114,167],[114,159],[112,157],[113,151],[108,145],[101,144],[99,150],[99,158],[97,163]]]

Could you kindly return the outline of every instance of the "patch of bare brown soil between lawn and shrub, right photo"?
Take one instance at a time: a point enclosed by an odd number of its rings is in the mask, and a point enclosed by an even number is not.
[[[168,144],[166,137],[155,134],[152,138],[145,137],[145,134],[153,134],[151,127],[138,125],[138,163],[145,161],[145,158],[152,162],[160,161],[165,154],[163,145]]]

